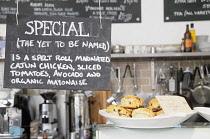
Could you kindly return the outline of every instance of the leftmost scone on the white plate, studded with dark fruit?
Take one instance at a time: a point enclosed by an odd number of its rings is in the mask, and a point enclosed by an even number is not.
[[[110,105],[106,108],[106,112],[118,117],[131,117],[131,112],[118,105]]]

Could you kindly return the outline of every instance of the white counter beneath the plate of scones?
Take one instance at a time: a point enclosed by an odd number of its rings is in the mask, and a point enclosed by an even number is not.
[[[96,139],[209,139],[209,122],[184,122],[171,128],[121,128],[99,124]]]

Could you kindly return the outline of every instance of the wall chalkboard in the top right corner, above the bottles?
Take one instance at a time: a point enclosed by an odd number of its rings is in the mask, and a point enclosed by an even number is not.
[[[164,22],[210,20],[209,0],[164,0]]]

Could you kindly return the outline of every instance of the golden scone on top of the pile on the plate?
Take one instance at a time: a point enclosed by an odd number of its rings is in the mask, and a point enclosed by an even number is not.
[[[144,100],[134,95],[127,95],[121,99],[121,105],[124,108],[139,108],[142,107]]]

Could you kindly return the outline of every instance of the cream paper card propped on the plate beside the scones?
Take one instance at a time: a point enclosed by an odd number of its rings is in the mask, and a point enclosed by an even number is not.
[[[185,98],[180,96],[156,96],[165,114],[192,112]]]

